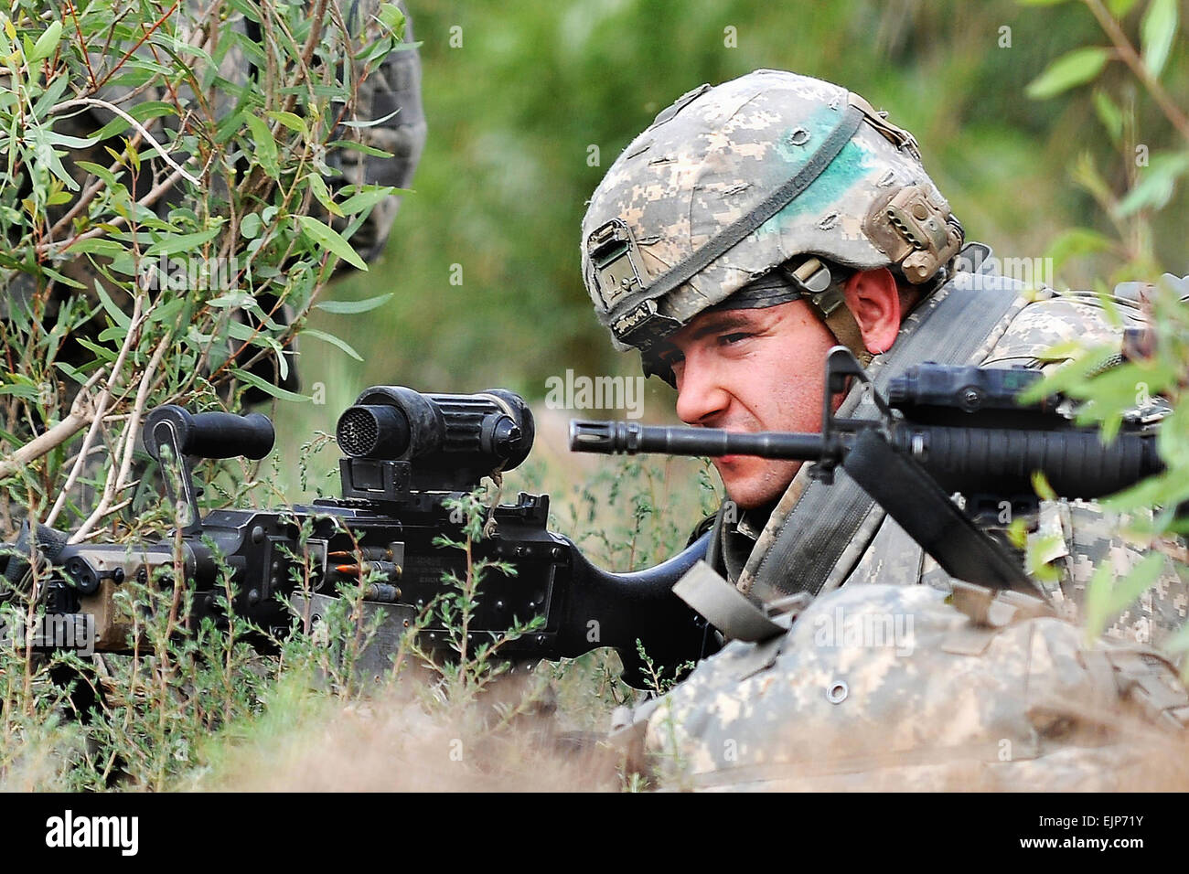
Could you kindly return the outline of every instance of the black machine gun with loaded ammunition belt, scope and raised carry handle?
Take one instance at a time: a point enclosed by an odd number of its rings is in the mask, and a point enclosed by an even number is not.
[[[133,617],[117,592],[132,579],[172,587],[176,564],[194,587],[191,624],[207,616],[225,620],[220,574],[229,572],[231,609],[270,635],[288,634],[296,616],[322,615],[340,584],[366,584],[365,612],[378,633],[364,652],[363,669],[382,672],[401,635],[443,591],[443,577],[466,576],[460,551],[434,545],[440,535],[464,539],[464,520],[448,508],[449,499],[520,465],[533,446],[534,421],[523,400],[502,389],[443,395],[373,386],[338,421],[341,499],[213,510],[205,517],[191,463],[264,458],[273,444],[271,421],[166,405],[145,417],[143,436],[178,509],[174,536],[132,546],[68,543],[64,533],[38,526],[34,534],[26,523],[6,551],[11,589],[27,590],[30,560],[42,562],[45,612],[80,624],[86,620],[95,649],[125,652]],[[473,558],[508,561],[516,572],[485,577],[468,624],[476,643],[540,616],[543,624],[507,642],[502,656],[555,660],[610,646],[624,662],[624,680],[637,686],[644,685],[637,639],[658,665],[703,652],[705,622],[671,589],[705,554],[707,537],[656,567],[609,573],[546,529],[548,508],[548,496],[524,492],[515,503],[489,508]],[[445,650],[445,628],[430,624],[422,634],[422,646]]]

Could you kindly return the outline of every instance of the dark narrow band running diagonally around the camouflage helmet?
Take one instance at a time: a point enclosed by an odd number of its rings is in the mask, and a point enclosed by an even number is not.
[[[644,301],[655,301],[678,285],[688,282],[728,250],[755,232],[763,222],[792,203],[838,157],[838,152],[855,136],[863,118],[862,109],[848,105],[838,124],[830,131],[817,151],[810,156],[805,165],[797,171],[797,175],[760,201],[750,213],[731,222],[704,246],[691,252],[685,260],[678,262],[658,276],[647,288],[619,301],[611,310],[611,323]]]

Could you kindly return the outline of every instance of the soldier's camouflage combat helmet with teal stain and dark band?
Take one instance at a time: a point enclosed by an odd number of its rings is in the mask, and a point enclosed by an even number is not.
[[[669,382],[658,341],[761,277],[866,363],[845,273],[886,266],[927,293],[962,240],[912,134],[845,88],[756,70],[684,94],[623,150],[583,219],[583,281],[616,347]]]

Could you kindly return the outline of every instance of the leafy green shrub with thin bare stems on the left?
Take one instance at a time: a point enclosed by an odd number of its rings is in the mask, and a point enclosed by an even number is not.
[[[308,400],[276,386],[282,352],[338,260],[366,270],[351,237],[394,191],[336,169],[363,145],[359,81],[401,37],[396,7],[382,18],[272,0],[0,14],[0,485],[21,508],[5,527],[32,514],[81,537],[132,507],[151,407]]]

